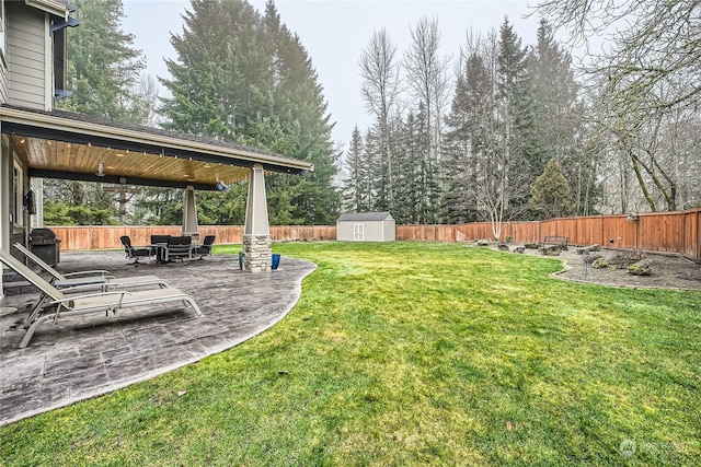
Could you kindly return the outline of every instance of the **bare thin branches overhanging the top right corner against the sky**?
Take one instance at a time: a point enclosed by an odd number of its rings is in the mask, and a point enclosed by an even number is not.
[[[555,27],[566,28],[574,43],[588,44],[590,37],[608,34],[607,48],[591,55],[589,71],[606,77],[602,94],[611,107],[629,114],[698,107],[701,47],[696,1],[547,0],[538,12]],[[635,105],[663,84],[674,92],[643,107]]]

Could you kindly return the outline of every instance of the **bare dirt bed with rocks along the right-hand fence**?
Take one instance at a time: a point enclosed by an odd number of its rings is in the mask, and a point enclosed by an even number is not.
[[[524,245],[508,244],[510,252],[520,246]],[[493,247],[496,248],[496,245]],[[524,254],[563,260],[565,270],[555,276],[565,280],[617,287],[701,290],[701,264],[679,256],[645,253],[643,257],[652,261],[652,273],[650,276],[634,276],[629,273],[624,267],[609,266],[602,269],[587,267],[584,256],[578,255],[577,248],[573,246],[559,256],[543,256],[537,249],[530,248],[526,248]],[[605,249],[591,253],[591,255],[601,255],[609,260],[614,258],[617,254],[620,255],[621,252]]]

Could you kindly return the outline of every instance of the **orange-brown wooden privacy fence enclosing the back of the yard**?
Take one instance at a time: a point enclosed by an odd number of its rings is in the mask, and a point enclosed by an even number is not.
[[[148,245],[152,234],[180,235],[180,226],[53,226],[61,238],[64,250],[120,248],[122,235],[129,235],[135,245]],[[240,225],[202,225],[200,238],[215,235],[215,243],[240,244]],[[335,225],[271,226],[273,242],[336,240]],[[651,212],[628,215],[588,215],[551,219],[541,222],[509,222],[502,240],[516,243],[539,242],[548,235],[570,237],[572,245],[639,248],[646,252],[677,253],[701,260],[701,209],[675,212]],[[492,238],[487,222],[458,225],[398,225],[397,240],[424,242],[469,242]],[[611,242],[612,241],[612,242]]]

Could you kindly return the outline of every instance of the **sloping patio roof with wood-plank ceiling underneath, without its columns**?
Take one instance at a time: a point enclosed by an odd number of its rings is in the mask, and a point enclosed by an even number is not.
[[[32,177],[215,190],[219,182],[248,179],[256,164],[267,172],[313,171],[253,148],[80,114],[1,106],[0,120]]]

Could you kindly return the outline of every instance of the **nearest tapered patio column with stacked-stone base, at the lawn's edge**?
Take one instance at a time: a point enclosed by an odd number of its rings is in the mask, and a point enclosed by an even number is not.
[[[249,197],[245,206],[243,270],[249,272],[271,271],[272,253],[273,240],[267,219],[263,166],[254,164],[249,178]]]

